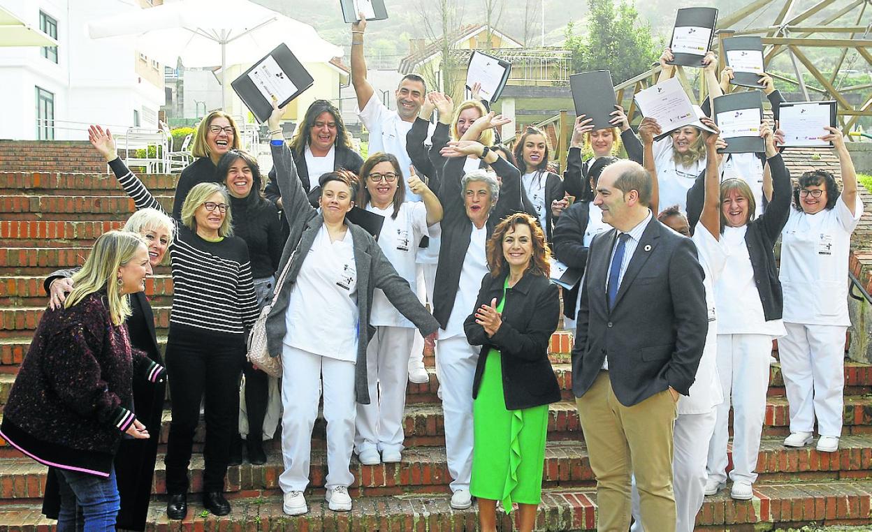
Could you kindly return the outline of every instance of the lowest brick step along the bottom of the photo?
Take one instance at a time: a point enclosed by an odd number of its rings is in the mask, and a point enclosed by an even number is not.
[[[232,499],[233,511],[217,517],[201,513],[199,501],[192,498],[187,518],[170,521],[166,500],[156,497],[146,518],[148,532],[195,529],[202,532],[242,532],[242,530],[306,530],[309,532],[345,530],[348,532],[419,532],[421,530],[478,529],[478,508],[450,507],[450,495],[422,494],[382,497],[356,497],[351,512],[333,512],[321,494],[307,494],[310,512],[284,515],[282,497],[245,494]],[[755,486],[751,501],[733,501],[722,492],[706,497],[697,516],[698,530],[750,532],[814,525],[863,525],[872,522],[872,482],[800,482]],[[45,532],[56,522],[41,515],[39,504],[10,503],[3,512],[0,532]],[[593,488],[546,488],[536,518],[535,530],[595,530],[596,490]],[[517,512],[498,514],[498,529],[513,530]]]

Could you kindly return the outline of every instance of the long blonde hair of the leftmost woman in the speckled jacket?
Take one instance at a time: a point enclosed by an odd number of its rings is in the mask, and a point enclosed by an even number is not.
[[[146,239],[138,233],[109,231],[99,236],[85,265],[72,276],[74,288],[66,296],[64,308],[77,305],[92,293],[106,288],[109,315],[114,325],[121,325],[131,315],[130,299],[121,293],[116,279],[121,266],[133,259],[140,246],[147,247]]]

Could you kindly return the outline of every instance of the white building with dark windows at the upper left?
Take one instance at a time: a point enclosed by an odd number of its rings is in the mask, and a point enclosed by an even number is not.
[[[0,48],[0,138],[87,138],[88,124],[156,126],[163,65],[123,37],[91,39],[87,22],[161,0],[0,0],[57,49]]]

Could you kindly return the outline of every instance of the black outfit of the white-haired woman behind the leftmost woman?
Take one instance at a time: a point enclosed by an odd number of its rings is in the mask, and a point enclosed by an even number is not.
[[[78,267],[52,272],[44,281],[45,292],[49,292],[51,281],[60,277],[72,277]],[[143,292],[130,294],[130,309],[133,314],[126,320],[130,345],[145,351],[148,358],[163,366],[157,334],[154,332],[154,314],[148,298]],[[122,439],[115,455],[115,477],[121,497],[116,526],[126,530],[145,530],[148,503],[152,498],[152,476],[158,455],[156,437],[160,433],[160,416],[167,383],[165,380],[149,382],[141,375],[133,375],[133,412],[137,419],[152,431],[153,437],[147,440]],[[45,481],[43,514],[51,519],[58,518],[60,509],[60,488],[58,478],[48,475]]]

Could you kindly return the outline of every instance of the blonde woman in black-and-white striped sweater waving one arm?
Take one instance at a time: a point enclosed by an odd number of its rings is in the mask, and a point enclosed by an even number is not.
[[[136,208],[162,211],[157,199],[118,157],[112,133],[92,126],[88,135]],[[248,246],[231,236],[229,201],[221,185],[201,183],[188,192],[181,220],[174,219],[169,248],[174,295],[167,338],[173,421],[165,459],[171,519],[187,515],[187,466],[204,393],[203,505],[215,515],[230,512],[222,491],[238,419],[245,331],[257,318],[257,302]]]

